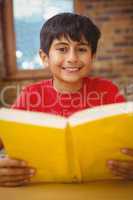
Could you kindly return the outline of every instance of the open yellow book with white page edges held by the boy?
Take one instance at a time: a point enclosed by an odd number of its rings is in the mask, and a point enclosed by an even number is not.
[[[109,159],[129,159],[133,102],[98,106],[69,118],[0,109],[0,138],[7,154],[37,168],[33,181],[81,182],[114,177]]]

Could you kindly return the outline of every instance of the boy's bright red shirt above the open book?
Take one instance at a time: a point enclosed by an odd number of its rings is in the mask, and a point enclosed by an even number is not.
[[[12,108],[68,117],[85,108],[124,101],[117,86],[109,80],[85,77],[78,92],[60,93],[49,79],[25,87]]]

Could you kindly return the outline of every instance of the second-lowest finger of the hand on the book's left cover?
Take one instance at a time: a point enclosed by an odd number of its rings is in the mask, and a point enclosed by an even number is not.
[[[26,179],[30,179],[33,175],[23,175],[23,176],[0,176],[0,183],[5,182],[17,182],[17,181],[24,181]]]

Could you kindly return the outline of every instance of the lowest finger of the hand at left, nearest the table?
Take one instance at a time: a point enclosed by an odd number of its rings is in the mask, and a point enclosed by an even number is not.
[[[23,181],[1,183],[0,186],[4,186],[4,187],[15,187],[15,186],[27,185],[27,184],[29,184],[29,183],[30,183],[30,180],[25,179],[25,180],[23,180]]]

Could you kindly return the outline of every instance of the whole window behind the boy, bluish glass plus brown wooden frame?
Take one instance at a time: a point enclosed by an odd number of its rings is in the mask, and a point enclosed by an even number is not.
[[[2,24],[7,78],[48,78],[48,68],[40,63],[39,31],[52,15],[78,10],[73,0],[3,0]],[[28,4],[28,5],[27,5]]]

